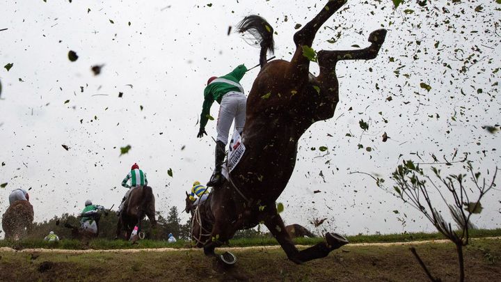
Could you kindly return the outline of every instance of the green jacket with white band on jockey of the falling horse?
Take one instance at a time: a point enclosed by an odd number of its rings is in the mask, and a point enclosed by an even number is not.
[[[244,88],[240,85],[240,80],[244,77],[246,71],[247,68],[245,65],[239,65],[228,75],[223,75],[222,77],[214,79],[205,87],[202,113],[200,114],[200,128],[202,130],[205,129],[205,125],[207,125],[210,108],[214,101],[221,104],[223,96],[230,91],[244,93]]]

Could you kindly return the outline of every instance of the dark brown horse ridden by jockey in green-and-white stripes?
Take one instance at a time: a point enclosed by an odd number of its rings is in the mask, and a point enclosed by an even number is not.
[[[154,217],[154,195],[149,186],[136,187],[125,201],[122,212],[118,217],[116,238],[121,237],[122,230],[125,230],[125,240],[129,240],[134,226],[138,226],[138,233],[141,232],[141,221],[148,216],[152,226],[157,225]]]

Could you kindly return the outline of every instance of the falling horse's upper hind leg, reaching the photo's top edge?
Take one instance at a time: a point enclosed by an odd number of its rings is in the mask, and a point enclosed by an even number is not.
[[[303,46],[311,47],[315,34],[320,29],[320,26],[327,21],[341,6],[346,3],[346,0],[331,0],[326,3],[326,6],[315,16],[308,24],[305,24],[302,29],[294,34],[294,43],[296,43],[296,52],[292,56],[291,68],[289,69],[289,77],[291,81],[298,81],[299,84],[305,84],[308,81],[308,72],[310,60],[303,55]]]

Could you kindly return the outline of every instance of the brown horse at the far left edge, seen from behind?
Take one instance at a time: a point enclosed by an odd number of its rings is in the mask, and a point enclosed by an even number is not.
[[[31,231],[33,205],[29,201],[15,201],[2,217],[2,228],[6,240],[19,240]]]

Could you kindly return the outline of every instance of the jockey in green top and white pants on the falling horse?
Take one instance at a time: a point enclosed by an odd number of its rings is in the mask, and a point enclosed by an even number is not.
[[[210,116],[210,108],[214,101],[220,104],[217,119],[217,140],[216,140],[216,163],[214,173],[207,183],[207,186],[213,187],[223,183],[221,167],[225,158],[225,146],[228,143],[228,133],[234,120],[234,128],[239,133],[244,130],[246,118],[246,102],[244,88],[240,85],[240,80],[244,77],[247,68],[245,65],[239,65],[228,75],[222,77],[211,77],[207,81],[207,87],[204,90],[204,102],[202,113],[200,114],[200,130],[198,138],[202,138],[205,132],[205,125]]]

